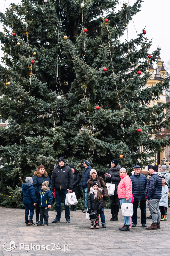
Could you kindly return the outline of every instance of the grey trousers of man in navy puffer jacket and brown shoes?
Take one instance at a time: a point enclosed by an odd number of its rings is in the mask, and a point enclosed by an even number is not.
[[[152,223],[160,223],[161,213],[159,210],[160,199],[150,199],[149,201],[149,211],[152,214]]]

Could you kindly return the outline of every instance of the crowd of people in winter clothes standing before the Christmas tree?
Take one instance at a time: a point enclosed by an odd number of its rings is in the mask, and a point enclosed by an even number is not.
[[[84,170],[80,181],[84,201],[82,212],[92,216],[90,219],[91,229],[99,228],[99,216],[102,227],[106,228],[104,207],[106,207],[108,196],[107,183],[114,184],[115,187],[114,194],[109,196],[110,221],[118,221],[119,203],[121,207],[124,203],[133,204],[133,213],[130,215],[132,217],[124,214],[124,223],[119,228],[120,231],[130,231],[131,227],[137,226],[137,220],[140,218],[137,216],[139,204],[141,224],[147,230],[159,229],[160,221],[167,220],[170,173],[165,164],[161,165],[160,170],[158,170],[157,165],[149,165],[147,177],[141,174],[141,167],[136,165],[129,177],[127,170],[119,165],[119,160],[113,159],[108,173],[104,174],[105,180],[97,175],[97,171],[91,167],[89,161],[85,160],[83,166]],[[34,206],[36,206],[37,226],[48,225],[48,211],[51,208],[53,197],[55,197],[56,217],[52,220],[52,223],[60,222],[62,200],[64,202],[66,223],[71,223],[70,208],[69,205],[65,205],[65,199],[66,194],[71,192],[74,192],[77,197],[79,180],[78,170],[75,169],[73,164],[66,165],[64,157],[58,159],[58,165],[54,167],[51,179],[45,171],[45,167],[40,165],[38,171],[34,172],[33,178],[26,177],[26,182],[22,186],[21,197],[25,206],[26,225],[35,225],[33,222]],[[146,225],[146,207],[149,207],[151,214],[149,217],[152,219],[150,227]],[[76,205],[71,206],[71,211],[76,211]],[[96,217],[94,218],[94,216]]]

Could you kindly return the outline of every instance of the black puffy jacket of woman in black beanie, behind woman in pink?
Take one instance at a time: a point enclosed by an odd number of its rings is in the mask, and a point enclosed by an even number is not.
[[[111,177],[105,179],[106,182],[115,184],[115,190],[114,190],[115,195],[117,195],[117,187],[119,185],[119,182],[121,181],[120,169],[121,169],[121,166],[119,164],[117,166],[114,166],[112,170],[109,169],[108,173],[111,175]]]

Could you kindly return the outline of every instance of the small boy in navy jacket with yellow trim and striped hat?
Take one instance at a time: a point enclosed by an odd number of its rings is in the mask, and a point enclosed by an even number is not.
[[[49,182],[44,181],[42,183],[42,188],[39,192],[39,205],[40,205],[40,221],[37,226],[48,226],[48,211],[51,208],[53,202],[53,195],[51,188],[48,187]],[[44,224],[43,224],[44,218]]]

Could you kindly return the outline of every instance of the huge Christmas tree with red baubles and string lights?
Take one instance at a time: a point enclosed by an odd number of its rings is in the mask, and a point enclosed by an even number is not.
[[[142,0],[21,2],[0,13],[1,201],[19,205],[25,177],[40,164],[51,176],[60,156],[80,173],[84,159],[100,174],[114,158],[129,171],[147,165],[169,143],[152,139],[169,103],[149,107],[169,79],[146,87],[159,49],[148,52],[145,28],[120,41]]]

